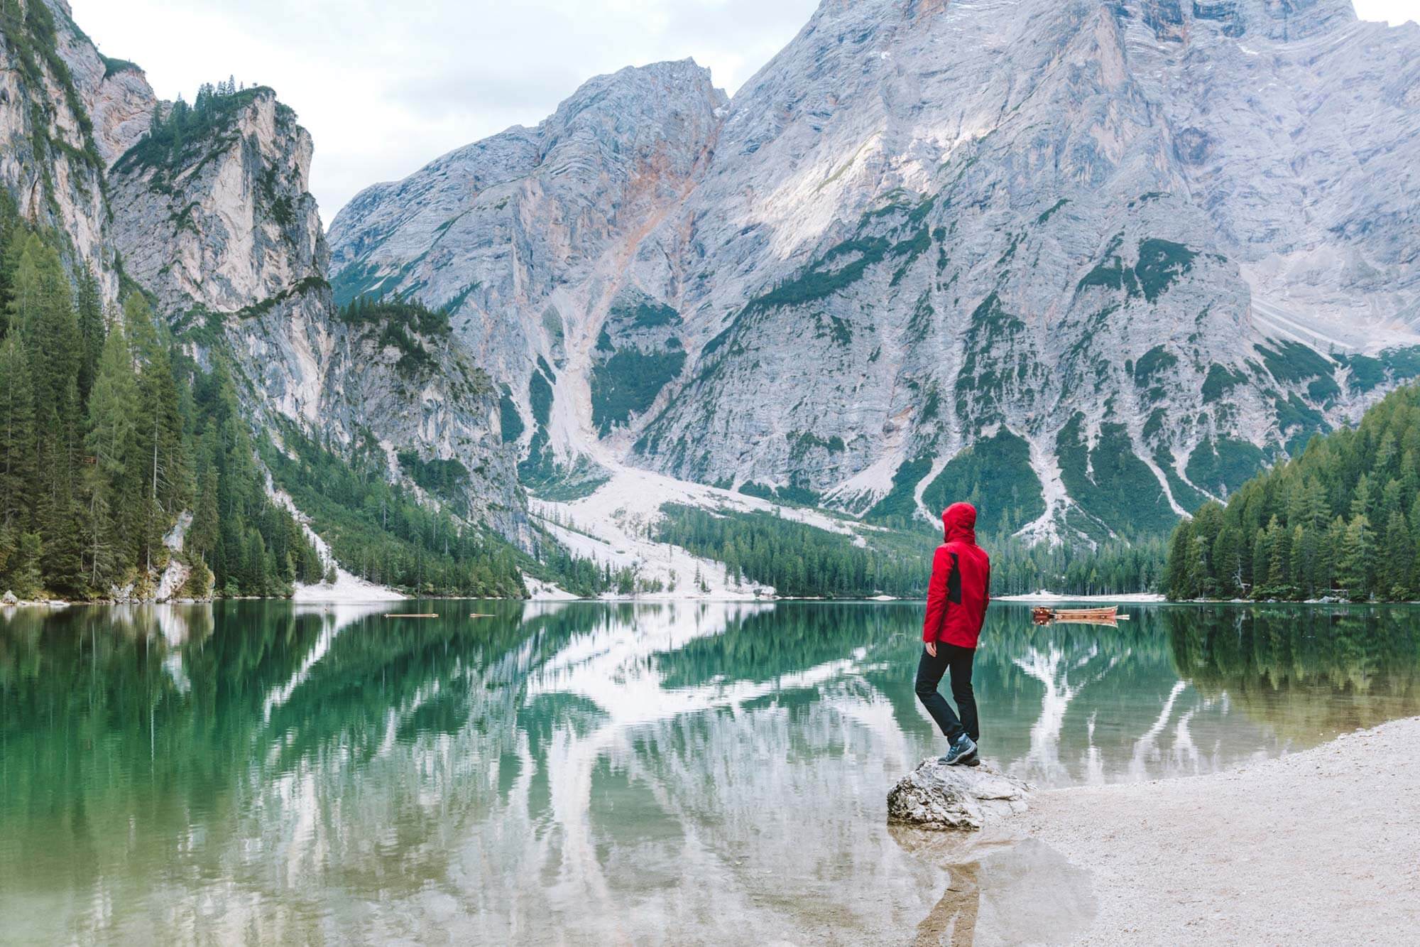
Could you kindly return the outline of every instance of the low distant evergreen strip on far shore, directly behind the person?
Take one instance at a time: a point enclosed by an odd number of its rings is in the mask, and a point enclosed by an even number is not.
[[[723,562],[731,582],[774,586],[784,596],[865,597],[927,593],[932,555],[941,542],[927,530],[868,533],[852,539],[770,513],[711,513],[669,503],[656,539]],[[991,555],[991,593],[1049,589],[1062,594],[1149,592],[1164,567],[1164,540],[1099,549],[1049,546],[1014,537],[981,537]]]

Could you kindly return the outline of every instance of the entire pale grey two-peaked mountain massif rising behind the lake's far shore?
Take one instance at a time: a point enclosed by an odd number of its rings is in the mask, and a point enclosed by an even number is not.
[[[1157,532],[1420,374],[1417,105],[1349,0],[825,0],[365,191],[331,282],[447,307],[534,489]]]

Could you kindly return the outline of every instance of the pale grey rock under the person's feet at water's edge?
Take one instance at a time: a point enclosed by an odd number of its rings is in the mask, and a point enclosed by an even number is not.
[[[981,829],[1025,812],[1031,785],[981,766],[923,759],[888,793],[888,822],[924,829]]]

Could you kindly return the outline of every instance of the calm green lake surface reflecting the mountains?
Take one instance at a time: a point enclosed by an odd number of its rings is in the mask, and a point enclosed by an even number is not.
[[[885,825],[944,751],[920,604],[388,610],[6,610],[0,941],[910,943],[946,903]],[[1420,610],[1123,611],[991,606],[988,761],[1203,774],[1420,712]]]

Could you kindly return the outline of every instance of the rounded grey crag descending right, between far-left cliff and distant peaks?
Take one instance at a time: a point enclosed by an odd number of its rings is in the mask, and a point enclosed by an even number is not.
[[[342,320],[308,192],[311,137],[267,88],[209,108],[204,135],[176,149],[139,142],[112,168],[114,240],[128,273],[182,337],[199,347],[226,338],[268,424],[284,417],[335,444],[373,441],[393,478],[400,451],[456,459],[470,482],[454,512],[515,536],[517,478],[487,377],[442,340]]]

